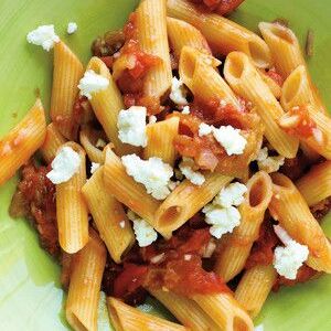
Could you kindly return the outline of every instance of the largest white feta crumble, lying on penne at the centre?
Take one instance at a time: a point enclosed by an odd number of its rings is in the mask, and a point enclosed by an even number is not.
[[[136,182],[145,185],[147,193],[157,200],[163,200],[170,194],[169,182],[173,175],[172,168],[160,158],[141,160],[136,154],[121,157],[126,171]]]

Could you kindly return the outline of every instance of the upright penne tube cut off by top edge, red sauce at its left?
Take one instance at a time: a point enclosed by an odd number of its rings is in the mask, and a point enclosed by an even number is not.
[[[170,88],[172,72],[167,34],[167,0],[142,0],[136,11],[141,50],[161,63],[150,68],[143,81],[143,95],[161,98]]]

